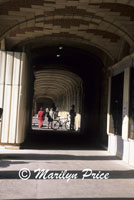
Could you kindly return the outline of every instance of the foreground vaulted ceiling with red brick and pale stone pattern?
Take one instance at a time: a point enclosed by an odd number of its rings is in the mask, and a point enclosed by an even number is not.
[[[0,0],[9,50],[65,44],[114,63],[134,50],[133,0]]]

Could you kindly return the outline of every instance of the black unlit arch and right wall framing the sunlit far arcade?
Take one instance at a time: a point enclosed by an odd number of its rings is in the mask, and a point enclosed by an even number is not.
[[[31,49],[30,65],[34,73],[46,69],[65,69],[82,79],[81,133],[89,137],[99,135],[103,74],[101,60],[82,49],[59,45]]]

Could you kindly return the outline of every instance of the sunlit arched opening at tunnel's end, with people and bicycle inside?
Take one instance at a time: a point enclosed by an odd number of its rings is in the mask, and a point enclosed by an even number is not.
[[[34,73],[32,128],[79,132],[82,113],[82,79],[63,69],[45,69]]]

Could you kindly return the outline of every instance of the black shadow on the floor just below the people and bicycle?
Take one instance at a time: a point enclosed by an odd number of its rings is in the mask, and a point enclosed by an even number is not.
[[[76,132],[32,130],[21,149],[102,150],[100,138]]]

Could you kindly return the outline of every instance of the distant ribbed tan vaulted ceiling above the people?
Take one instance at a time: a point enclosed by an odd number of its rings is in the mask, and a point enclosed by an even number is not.
[[[45,97],[56,102],[61,96],[72,95],[77,89],[80,91],[81,87],[80,77],[66,70],[47,69],[35,72],[35,99]]]

